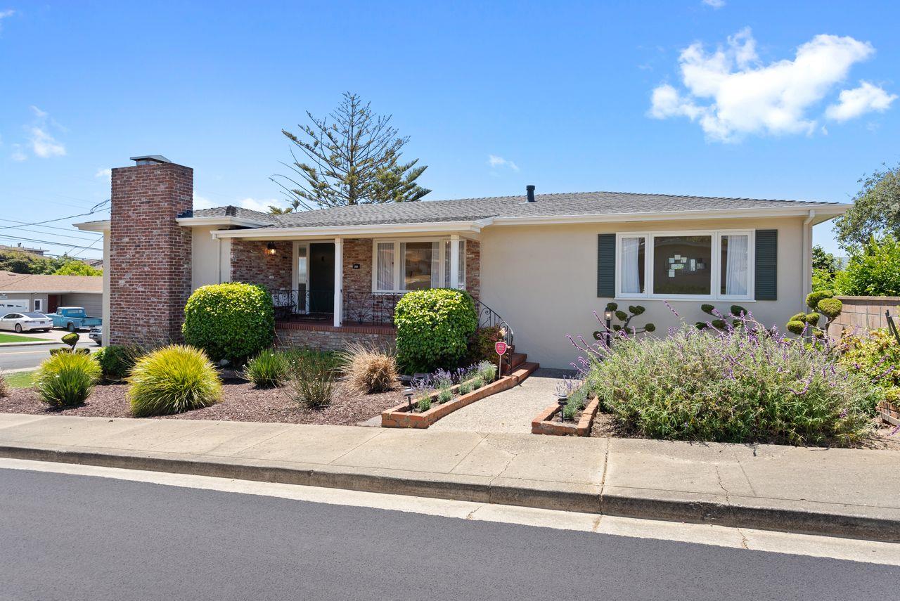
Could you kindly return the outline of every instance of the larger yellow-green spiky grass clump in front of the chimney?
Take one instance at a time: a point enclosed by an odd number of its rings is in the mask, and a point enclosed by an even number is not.
[[[209,407],[221,398],[219,373],[209,357],[188,345],[164,346],[141,357],[128,377],[134,417],[165,416]]]

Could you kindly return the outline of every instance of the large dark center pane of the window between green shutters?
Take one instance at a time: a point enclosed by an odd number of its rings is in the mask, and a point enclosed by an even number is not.
[[[654,236],[653,293],[712,292],[712,236]]]

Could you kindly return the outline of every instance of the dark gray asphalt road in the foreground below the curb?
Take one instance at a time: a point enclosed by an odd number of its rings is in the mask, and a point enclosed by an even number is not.
[[[869,599],[900,568],[0,470],[0,599]]]

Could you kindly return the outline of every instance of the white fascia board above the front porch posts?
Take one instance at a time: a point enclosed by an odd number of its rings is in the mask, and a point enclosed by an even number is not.
[[[438,234],[451,232],[478,233],[491,225],[492,218],[475,221],[437,221],[430,223],[388,223],[381,225],[324,226],[318,228],[260,228],[218,229],[212,238],[249,238],[274,240],[278,238],[335,238],[377,237],[396,234]]]

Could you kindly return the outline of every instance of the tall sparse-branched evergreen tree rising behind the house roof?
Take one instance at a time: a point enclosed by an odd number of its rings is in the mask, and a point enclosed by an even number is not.
[[[416,180],[428,166],[419,159],[401,161],[401,148],[410,141],[399,137],[391,115],[372,112],[357,94],[344,93],[334,112],[300,125],[300,134],[282,130],[291,149],[290,175],[274,175],[294,210],[325,209],[352,204],[419,201],[431,192]],[[305,158],[297,156],[297,148]],[[271,211],[284,212],[272,207]]]

